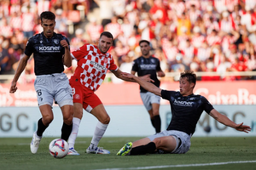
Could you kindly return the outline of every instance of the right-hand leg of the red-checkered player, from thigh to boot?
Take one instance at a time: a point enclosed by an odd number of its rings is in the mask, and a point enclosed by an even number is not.
[[[99,120],[96,125],[94,135],[91,139],[90,146],[86,150],[87,153],[95,153],[95,154],[109,154],[108,150],[102,150],[98,147],[100,140],[102,139],[105,131],[107,130],[108,123],[110,122],[110,117],[108,116],[107,111],[105,110],[102,104],[97,105],[93,108],[90,113]]]

